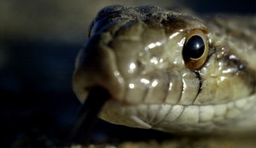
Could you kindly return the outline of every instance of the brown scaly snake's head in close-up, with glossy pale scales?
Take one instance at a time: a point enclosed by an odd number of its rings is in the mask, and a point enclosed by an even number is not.
[[[255,16],[113,5],[89,31],[73,91],[84,103],[92,88],[106,89],[104,121],[174,134],[256,134]]]

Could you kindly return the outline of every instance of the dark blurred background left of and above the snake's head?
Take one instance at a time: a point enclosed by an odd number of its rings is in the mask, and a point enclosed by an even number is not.
[[[255,0],[1,0],[1,147],[65,143],[80,107],[72,89],[74,60],[86,41],[90,21],[99,9],[110,4],[175,5],[199,14],[256,17]],[[119,128],[100,121],[93,139],[111,139],[108,134],[117,136]]]

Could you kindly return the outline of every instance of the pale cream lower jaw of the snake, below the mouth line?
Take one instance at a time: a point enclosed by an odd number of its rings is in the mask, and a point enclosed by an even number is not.
[[[114,124],[175,134],[244,133],[252,132],[256,122],[243,116],[255,118],[255,101],[256,94],[220,105],[122,105],[109,100],[100,117]]]

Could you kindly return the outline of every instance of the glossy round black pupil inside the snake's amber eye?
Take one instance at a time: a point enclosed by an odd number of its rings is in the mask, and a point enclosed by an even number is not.
[[[204,53],[205,43],[200,36],[190,37],[187,43],[183,47],[183,58],[188,60],[198,59]]]

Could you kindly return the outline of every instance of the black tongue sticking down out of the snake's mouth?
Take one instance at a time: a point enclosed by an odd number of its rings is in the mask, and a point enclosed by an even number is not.
[[[96,118],[101,111],[102,106],[109,98],[110,94],[106,89],[101,87],[91,88],[87,99],[79,110],[69,144],[89,144],[90,135],[94,128]]]

